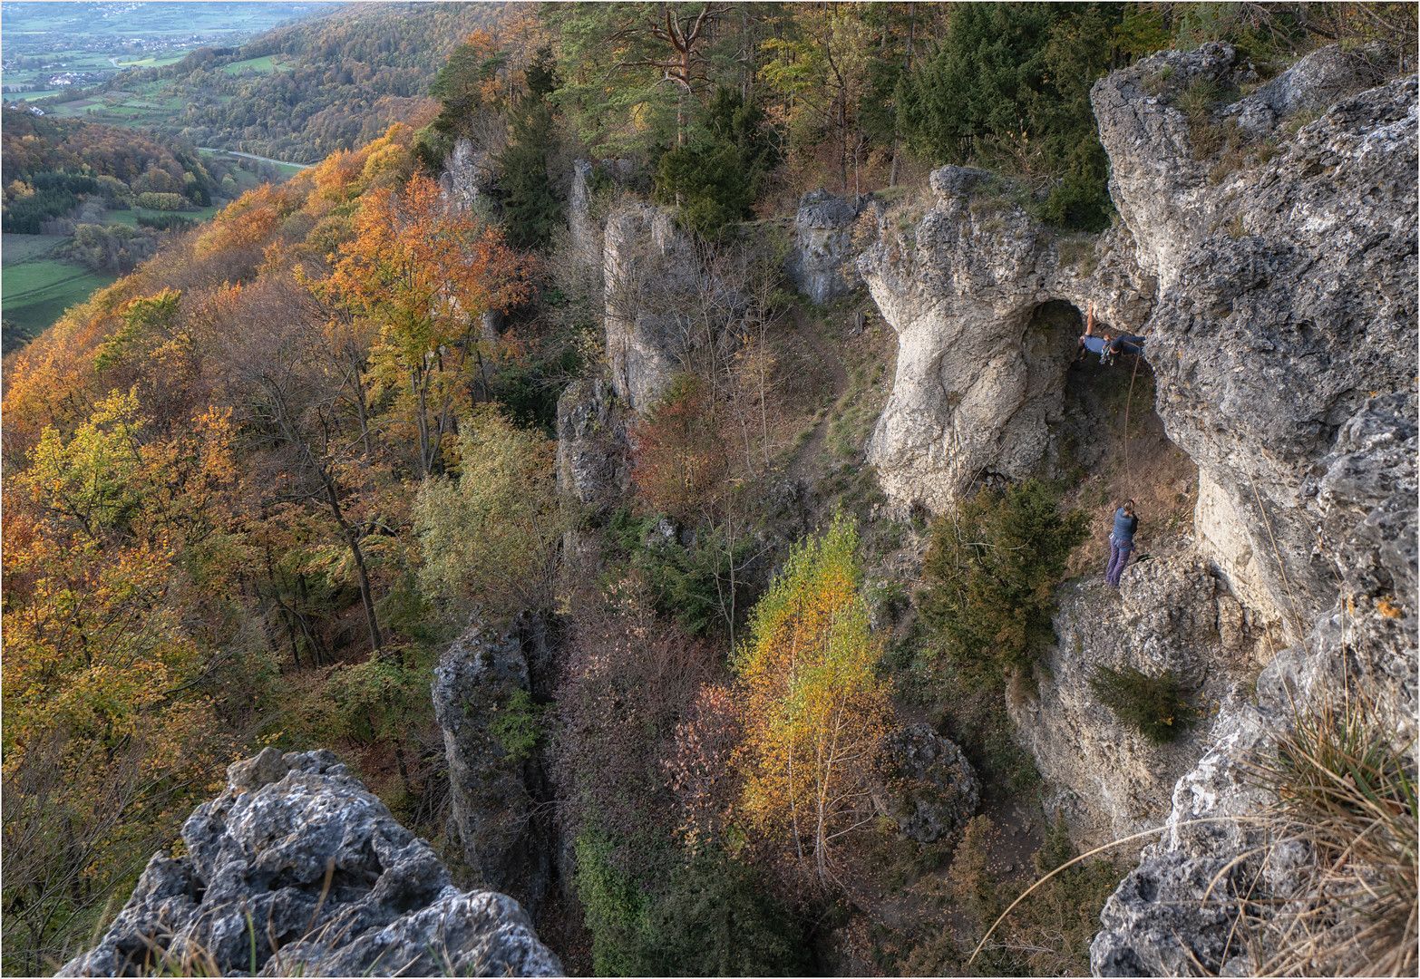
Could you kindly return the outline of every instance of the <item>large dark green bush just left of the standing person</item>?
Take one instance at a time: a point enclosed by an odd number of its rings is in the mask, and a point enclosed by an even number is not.
[[[987,682],[1030,673],[1055,636],[1055,586],[1086,519],[1061,514],[1059,498],[1030,480],[983,490],[937,521],[917,607],[958,670]]]

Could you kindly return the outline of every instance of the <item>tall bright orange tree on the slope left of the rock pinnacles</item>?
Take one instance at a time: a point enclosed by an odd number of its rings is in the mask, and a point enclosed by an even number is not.
[[[427,177],[398,194],[371,190],[364,201],[354,240],[314,288],[378,326],[372,373],[393,394],[395,420],[413,428],[415,471],[429,475],[454,430],[462,382],[494,342],[480,316],[523,302],[534,265],[498,228],[447,209]]]

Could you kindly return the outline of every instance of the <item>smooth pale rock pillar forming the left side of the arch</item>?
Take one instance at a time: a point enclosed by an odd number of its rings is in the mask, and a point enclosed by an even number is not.
[[[868,461],[899,511],[940,512],[980,478],[1034,472],[1064,403],[1079,311],[1093,299],[1102,321],[1136,329],[1153,297],[1122,228],[1056,236],[981,170],[943,167],[932,190],[913,231],[883,220],[858,258],[897,332]]]

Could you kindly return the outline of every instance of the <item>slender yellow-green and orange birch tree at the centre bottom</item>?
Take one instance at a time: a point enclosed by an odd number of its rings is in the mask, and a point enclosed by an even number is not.
[[[868,630],[858,589],[858,531],[836,516],[794,549],[750,613],[734,670],[741,684],[743,809],[765,836],[812,854],[824,884],[832,853],[873,820],[869,803],[892,708],[876,668],[882,641]]]

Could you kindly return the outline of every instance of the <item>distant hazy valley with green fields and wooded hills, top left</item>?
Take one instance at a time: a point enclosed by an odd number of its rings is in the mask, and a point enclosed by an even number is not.
[[[500,11],[318,1],[4,4],[0,349],[17,349],[132,271],[165,231],[300,169],[281,162],[310,165],[392,123],[427,121],[435,72],[462,37]],[[142,135],[133,140],[124,131]],[[26,136],[33,139],[20,149]],[[138,156],[118,160],[111,150],[121,143]]]

